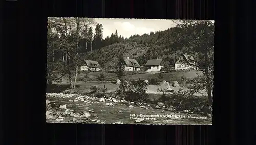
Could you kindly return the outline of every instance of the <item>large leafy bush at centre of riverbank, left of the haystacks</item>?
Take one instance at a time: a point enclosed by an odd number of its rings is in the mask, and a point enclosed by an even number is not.
[[[117,95],[120,99],[145,102],[148,99],[148,94],[146,94],[147,88],[148,84],[144,79],[131,81],[126,79],[121,82]]]

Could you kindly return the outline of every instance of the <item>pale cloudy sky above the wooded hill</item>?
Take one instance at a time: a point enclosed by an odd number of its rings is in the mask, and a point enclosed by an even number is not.
[[[167,30],[175,27],[175,20],[164,19],[106,19],[97,18],[95,21],[103,26],[103,38],[114,34],[117,30],[118,36],[129,38],[135,34],[145,34],[156,31]],[[95,26],[94,30],[95,30]]]

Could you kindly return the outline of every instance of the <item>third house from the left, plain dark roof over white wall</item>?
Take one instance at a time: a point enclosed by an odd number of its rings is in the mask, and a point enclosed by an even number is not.
[[[146,72],[156,71],[159,72],[165,67],[163,59],[148,60],[145,64]]]

